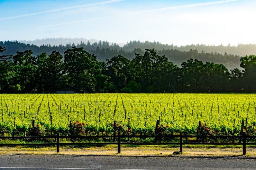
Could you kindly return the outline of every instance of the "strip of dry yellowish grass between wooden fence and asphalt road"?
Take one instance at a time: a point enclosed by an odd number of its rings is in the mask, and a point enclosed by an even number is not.
[[[122,156],[170,156],[174,152],[179,155],[180,148],[169,147],[121,147],[121,153],[117,154],[116,146],[105,147],[60,147],[60,152],[56,152],[56,148],[22,148],[22,147],[1,147],[0,154],[63,154],[63,155],[122,155]],[[242,148],[190,148],[183,147],[182,156],[243,156]],[[243,157],[255,157],[256,148],[246,148],[246,155]]]

